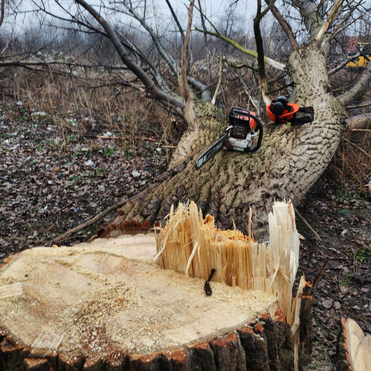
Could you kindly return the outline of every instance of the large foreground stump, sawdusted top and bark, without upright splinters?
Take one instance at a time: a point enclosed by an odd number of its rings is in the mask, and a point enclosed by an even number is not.
[[[275,296],[153,262],[153,234],[39,247],[0,269],[0,370],[292,370]]]

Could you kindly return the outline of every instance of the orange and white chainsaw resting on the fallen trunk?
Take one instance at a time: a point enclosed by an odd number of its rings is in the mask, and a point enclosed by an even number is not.
[[[223,137],[197,158],[196,170],[206,164],[222,148],[240,152],[259,150],[263,138],[263,125],[255,112],[233,107],[228,119],[230,126],[227,127]]]

